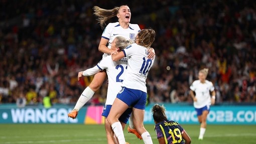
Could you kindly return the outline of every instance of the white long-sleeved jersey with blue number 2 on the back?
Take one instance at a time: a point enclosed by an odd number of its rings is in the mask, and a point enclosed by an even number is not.
[[[87,69],[83,72],[84,76],[96,74],[106,69],[108,77],[107,97],[105,105],[112,105],[117,93],[121,90],[121,83],[127,68],[127,58],[118,61],[112,61],[111,56],[102,59],[95,67]]]

